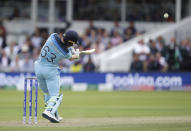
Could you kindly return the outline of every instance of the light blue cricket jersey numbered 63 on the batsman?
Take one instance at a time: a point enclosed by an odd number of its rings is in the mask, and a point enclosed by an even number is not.
[[[61,59],[70,59],[71,57],[71,48],[64,47],[59,35],[53,33],[42,47],[37,61],[41,65],[58,66]]]

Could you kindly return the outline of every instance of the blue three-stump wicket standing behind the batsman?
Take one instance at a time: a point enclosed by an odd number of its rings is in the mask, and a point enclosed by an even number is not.
[[[38,80],[35,77],[28,77],[24,79],[24,104],[23,104],[23,123],[26,124],[26,114],[27,114],[27,81],[30,80],[29,88],[29,124],[32,124],[32,90],[33,81],[35,81],[35,116],[34,123],[37,124],[37,106],[38,106]]]

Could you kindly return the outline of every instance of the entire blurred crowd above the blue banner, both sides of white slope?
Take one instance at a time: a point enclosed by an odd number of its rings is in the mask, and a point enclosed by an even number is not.
[[[57,32],[63,33],[63,32]],[[80,34],[80,50],[95,48],[95,54],[111,49],[139,35],[134,23],[130,22],[126,28],[122,28],[117,21],[110,31],[96,27],[93,21],[84,33]],[[0,23],[0,71],[3,72],[33,72],[33,63],[38,58],[41,47],[46,42],[49,34],[38,28],[32,35],[26,36],[23,42],[15,40],[7,42],[6,29]],[[65,72],[96,72],[95,54],[83,55],[80,60],[71,62],[63,60],[60,67]],[[177,42],[172,37],[170,43],[166,43],[162,37],[149,40],[148,43],[141,39],[133,50],[132,72],[176,72],[191,71],[191,40],[185,38]]]

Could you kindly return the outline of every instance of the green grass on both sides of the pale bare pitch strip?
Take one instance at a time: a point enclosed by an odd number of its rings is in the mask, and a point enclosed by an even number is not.
[[[63,94],[63,103],[59,112],[64,118],[191,116],[191,92],[64,91]],[[41,120],[43,119],[41,113],[44,110],[41,91],[39,91],[38,105],[38,119]],[[0,122],[22,121],[22,113],[23,92],[0,90]],[[0,130],[5,131],[26,129],[49,131],[53,127],[0,127]],[[54,127],[54,130],[61,129],[67,131],[190,131],[191,123]]]

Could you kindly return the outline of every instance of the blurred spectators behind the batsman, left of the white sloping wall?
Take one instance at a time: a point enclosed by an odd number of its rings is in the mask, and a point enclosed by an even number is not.
[[[56,32],[63,33],[63,32]],[[114,46],[122,44],[139,34],[133,22],[126,28],[122,28],[117,21],[110,31],[96,27],[93,21],[84,33],[80,34],[80,50],[95,48],[95,54],[99,54]],[[32,35],[26,36],[23,42],[16,40],[7,42],[6,29],[0,24],[0,71],[4,72],[33,72],[33,62],[38,58],[40,49],[46,42],[49,34],[46,31],[36,29]],[[60,67],[65,72],[95,72],[95,54],[81,56],[80,60],[71,62],[63,60]]]

